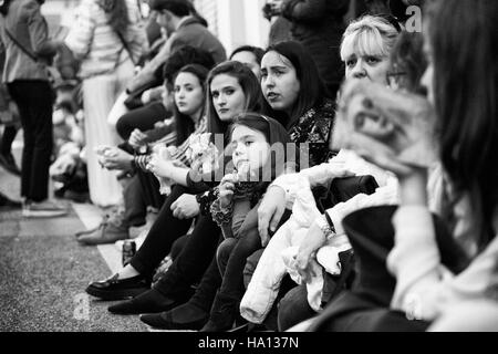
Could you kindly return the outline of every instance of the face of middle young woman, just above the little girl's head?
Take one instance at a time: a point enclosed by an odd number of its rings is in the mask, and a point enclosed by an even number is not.
[[[231,122],[246,110],[246,94],[239,81],[227,74],[216,75],[211,81],[212,105],[221,122]]]

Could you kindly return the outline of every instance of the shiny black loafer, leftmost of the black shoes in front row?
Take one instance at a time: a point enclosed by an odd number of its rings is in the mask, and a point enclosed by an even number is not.
[[[151,289],[151,281],[143,275],[117,278],[118,274],[115,274],[107,280],[93,282],[86,288],[86,292],[105,301],[114,301],[135,298]]]

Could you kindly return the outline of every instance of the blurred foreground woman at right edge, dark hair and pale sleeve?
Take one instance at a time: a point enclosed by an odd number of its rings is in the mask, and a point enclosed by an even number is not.
[[[442,250],[427,219],[426,171],[386,166],[398,175],[402,190],[402,207],[393,218],[395,247],[387,259],[397,280],[392,308],[409,311],[409,298],[417,298],[417,315],[434,323],[430,331],[498,330],[497,27],[496,1],[435,1],[429,7],[429,67],[423,84],[437,114],[440,159],[454,191],[450,205],[468,202],[468,214],[458,221],[468,222],[475,244],[467,249],[471,262],[460,274],[438,277]]]

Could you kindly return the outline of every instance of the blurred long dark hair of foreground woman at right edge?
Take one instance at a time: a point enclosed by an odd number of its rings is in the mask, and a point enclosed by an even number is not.
[[[459,196],[470,197],[481,250],[498,206],[498,1],[435,1],[427,10],[442,162]]]

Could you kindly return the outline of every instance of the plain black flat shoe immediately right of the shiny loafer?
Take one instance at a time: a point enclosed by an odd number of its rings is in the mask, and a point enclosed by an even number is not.
[[[132,300],[108,306],[107,310],[114,314],[158,313],[174,309],[181,303],[166,298],[155,289],[149,289]]]

